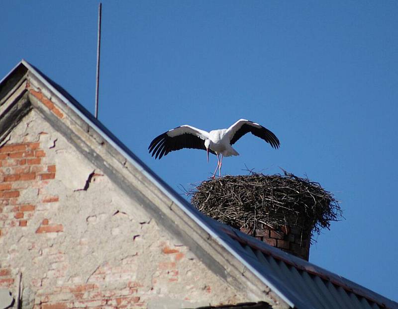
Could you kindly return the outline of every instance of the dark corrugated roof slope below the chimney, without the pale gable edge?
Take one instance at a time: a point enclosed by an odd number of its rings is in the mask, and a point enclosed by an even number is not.
[[[294,291],[306,308],[398,308],[394,301],[254,237],[230,227],[219,228],[230,235],[235,246],[240,245],[248,256],[257,259],[264,276],[276,278],[277,284]]]

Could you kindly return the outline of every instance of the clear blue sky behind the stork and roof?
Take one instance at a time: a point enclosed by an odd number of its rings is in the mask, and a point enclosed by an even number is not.
[[[198,150],[159,160],[158,134],[246,118],[224,174],[307,175],[346,220],[310,262],[398,301],[398,2],[103,1],[100,121],[174,187],[210,176]],[[0,76],[22,58],[94,112],[97,1],[1,1]]]

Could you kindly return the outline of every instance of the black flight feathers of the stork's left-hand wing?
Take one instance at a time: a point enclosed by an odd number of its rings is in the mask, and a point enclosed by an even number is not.
[[[185,133],[170,137],[167,135],[168,132],[169,131],[155,137],[151,144],[149,144],[149,153],[152,153],[152,156],[155,155],[155,159],[158,157],[160,159],[163,155],[183,148],[206,150],[204,140],[193,134]],[[212,150],[209,150],[209,152],[215,154]]]

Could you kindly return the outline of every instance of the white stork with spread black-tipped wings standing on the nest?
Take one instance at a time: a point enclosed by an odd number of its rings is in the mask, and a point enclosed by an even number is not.
[[[223,156],[239,155],[231,145],[235,144],[246,133],[263,139],[271,145],[271,147],[279,148],[279,140],[270,130],[264,128],[258,123],[240,119],[228,129],[219,129],[206,132],[189,125],[180,126],[171,129],[158,137],[154,138],[148,147],[149,153],[155,155],[155,159],[159,159],[163,155],[180,150],[183,148],[202,149],[208,153],[217,155],[217,166],[213,173],[213,178],[217,172],[221,176],[221,165]],[[221,159],[219,155],[221,154]]]

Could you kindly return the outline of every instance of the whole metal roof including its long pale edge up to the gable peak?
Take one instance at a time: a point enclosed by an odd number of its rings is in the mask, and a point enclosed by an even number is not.
[[[156,184],[200,228],[207,232],[219,245],[231,253],[292,308],[398,309],[398,303],[396,302],[201,215],[190,203],[184,200],[123,145],[68,92],[26,61],[22,60],[1,80],[0,84],[6,83],[8,78],[12,77],[12,73],[17,71],[20,66],[24,66],[31,74],[43,82],[66,105],[95,129],[105,141]]]

